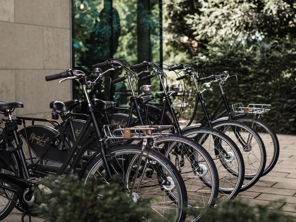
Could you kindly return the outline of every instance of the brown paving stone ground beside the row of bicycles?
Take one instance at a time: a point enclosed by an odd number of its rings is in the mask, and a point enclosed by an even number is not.
[[[279,160],[274,169],[260,178],[255,186],[238,195],[250,205],[275,203],[282,210],[296,218],[296,136],[278,134],[280,144]],[[14,210],[4,222],[20,222],[21,214]],[[28,218],[25,218],[28,221]],[[44,221],[32,218],[32,222]]]

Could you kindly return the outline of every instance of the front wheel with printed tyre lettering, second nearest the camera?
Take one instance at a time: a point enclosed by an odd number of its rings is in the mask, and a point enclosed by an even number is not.
[[[176,166],[185,182],[189,211],[187,220],[197,221],[208,207],[214,206],[218,195],[218,172],[210,155],[195,141],[173,135],[157,139],[155,149]]]

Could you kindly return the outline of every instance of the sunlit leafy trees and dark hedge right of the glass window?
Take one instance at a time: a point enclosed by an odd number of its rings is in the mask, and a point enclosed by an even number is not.
[[[166,64],[192,62],[205,75],[228,70],[238,76],[236,101],[235,87],[230,82],[224,87],[230,104],[271,104],[262,118],[277,133],[296,134],[295,1],[165,0],[163,14]],[[193,83],[186,79],[185,102],[195,96],[190,88]],[[208,109],[220,99],[216,85],[207,96]],[[188,104],[185,118],[193,107]]]

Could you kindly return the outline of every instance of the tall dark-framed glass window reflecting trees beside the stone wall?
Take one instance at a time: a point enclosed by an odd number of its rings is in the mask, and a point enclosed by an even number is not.
[[[91,65],[110,58],[124,59],[130,65],[143,61],[162,62],[161,7],[161,0],[73,0],[73,69],[90,73]],[[122,76],[122,72],[106,75],[103,83],[91,90],[91,98],[128,106],[131,93],[127,82],[114,86],[111,83],[111,79]],[[137,87],[148,83],[139,81]],[[151,84],[154,92],[160,90],[157,79]],[[85,102],[81,86],[75,81],[73,99]]]

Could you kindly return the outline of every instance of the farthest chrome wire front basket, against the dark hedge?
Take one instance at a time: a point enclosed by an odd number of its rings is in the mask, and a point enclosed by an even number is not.
[[[232,104],[233,112],[237,112],[237,113],[263,114],[270,111],[269,107],[271,107],[271,104],[250,103],[248,107],[244,107],[244,105],[241,102],[237,104]]]

